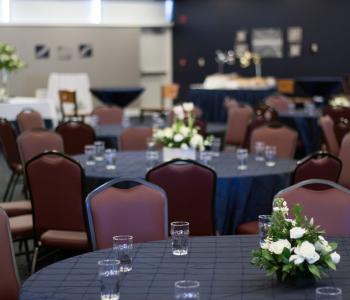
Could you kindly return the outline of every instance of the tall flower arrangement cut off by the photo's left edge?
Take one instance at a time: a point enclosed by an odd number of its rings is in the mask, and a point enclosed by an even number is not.
[[[9,73],[24,67],[25,63],[16,55],[16,49],[0,42],[0,99],[8,98],[7,82]]]

